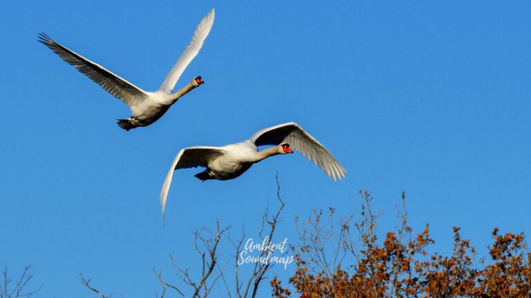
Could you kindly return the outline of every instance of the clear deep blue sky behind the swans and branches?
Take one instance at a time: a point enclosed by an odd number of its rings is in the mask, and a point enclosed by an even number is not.
[[[206,83],[129,132],[115,123],[127,106],[36,41],[46,32],[155,90],[213,7],[177,88],[198,74]],[[295,215],[357,214],[361,189],[384,212],[382,231],[393,228],[405,190],[413,228],[429,223],[436,250],[449,252],[460,226],[484,255],[494,227],[531,230],[530,15],[529,1],[3,3],[0,266],[33,264],[40,297],[94,297],[80,272],[115,297],[153,297],[151,268],[174,277],[170,253],[198,268],[191,230],[219,219],[234,236],[245,227],[258,237],[277,170],[286,201],[277,237],[290,244]],[[162,226],[158,194],[180,148],[288,121],[335,155],[344,181],[299,154],[232,181],[179,170]],[[234,254],[226,241],[220,251]]]

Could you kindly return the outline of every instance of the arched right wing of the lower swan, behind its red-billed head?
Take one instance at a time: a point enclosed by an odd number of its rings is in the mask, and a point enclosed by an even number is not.
[[[346,175],[346,170],[333,155],[295,122],[260,130],[251,137],[251,141],[257,146],[278,146],[281,143],[288,143],[292,149],[301,152],[304,157],[324,170],[334,181],[341,180]]]

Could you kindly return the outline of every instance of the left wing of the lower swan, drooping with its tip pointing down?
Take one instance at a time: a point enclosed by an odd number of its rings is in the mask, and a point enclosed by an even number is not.
[[[171,185],[171,177],[174,176],[174,171],[182,168],[196,168],[207,167],[208,162],[212,161],[225,153],[225,150],[219,147],[189,147],[181,149],[174,162],[171,163],[168,175],[162,185],[160,191],[160,206],[162,207],[162,220],[164,220],[164,209],[166,207],[166,198],[168,196],[169,186]]]

